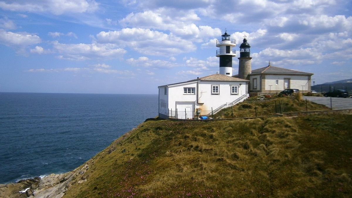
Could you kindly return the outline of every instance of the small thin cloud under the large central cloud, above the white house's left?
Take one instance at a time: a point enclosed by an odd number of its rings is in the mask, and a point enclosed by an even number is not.
[[[149,60],[148,57],[142,56],[137,59],[134,58],[128,58],[126,60],[128,64],[131,64],[133,66],[137,67],[147,67],[147,68],[171,68],[171,67],[177,67],[179,64],[177,63],[171,63],[169,61],[163,61],[163,60]]]

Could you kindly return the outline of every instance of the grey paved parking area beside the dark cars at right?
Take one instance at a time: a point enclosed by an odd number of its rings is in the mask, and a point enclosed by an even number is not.
[[[303,96],[304,100],[330,107],[330,97]],[[352,98],[331,98],[332,109],[352,109]]]

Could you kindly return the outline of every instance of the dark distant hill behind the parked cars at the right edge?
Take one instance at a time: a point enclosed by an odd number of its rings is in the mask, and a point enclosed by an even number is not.
[[[352,93],[352,79],[325,82],[320,85],[315,85],[314,87],[312,86],[311,89],[317,92],[328,92],[332,89],[344,89]]]

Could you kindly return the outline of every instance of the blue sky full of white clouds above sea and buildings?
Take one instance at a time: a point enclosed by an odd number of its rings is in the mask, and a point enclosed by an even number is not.
[[[252,69],[350,79],[351,13],[346,0],[0,0],[0,92],[157,94],[218,72],[225,30],[237,51],[246,35]]]

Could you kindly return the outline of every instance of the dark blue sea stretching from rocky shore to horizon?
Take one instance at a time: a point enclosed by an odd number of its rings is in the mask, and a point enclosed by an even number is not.
[[[75,169],[158,113],[158,95],[0,93],[0,184]]]

